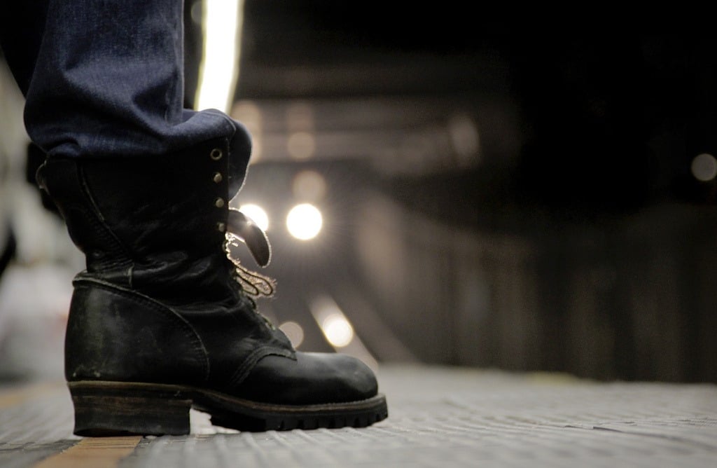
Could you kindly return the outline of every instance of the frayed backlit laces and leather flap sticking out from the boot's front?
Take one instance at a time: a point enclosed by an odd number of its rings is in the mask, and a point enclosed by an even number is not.
[[[267,266],[271,261],[271,245],[266,233],[250,217],[235,208],[229,208],[227,218],[227,241],[224,251],[234,263],[234,281],[250,297],[270,297],[275,291],[275,281],[256,271],[251,271],[239,262],[232,253],[232,247],[239,247],[239,242],[247,245],[252,257],[259,266]]]

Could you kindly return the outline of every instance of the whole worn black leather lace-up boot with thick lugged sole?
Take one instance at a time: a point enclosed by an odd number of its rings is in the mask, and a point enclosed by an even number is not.
[[[238,191],[229,159],[228,141],[215,140],[166,156],[50,158],[39,169],[87,259],[65,341],[75,434],[189,434],[190,408],[242,431],[388,416],[363,362],[295,351],[244,291],[247,280],[268,284],[227,257],[227,229],[243,231],[260,262],[269,252],[229,210]]]

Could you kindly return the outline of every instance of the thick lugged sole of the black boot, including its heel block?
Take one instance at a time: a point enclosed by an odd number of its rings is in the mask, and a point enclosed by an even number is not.
[[[189,410],[239,431],[366,427],[389,416],[385,396],[318,405],[277,405],[186,385],[81,380],[67,383],[78,436],[186,435]]]

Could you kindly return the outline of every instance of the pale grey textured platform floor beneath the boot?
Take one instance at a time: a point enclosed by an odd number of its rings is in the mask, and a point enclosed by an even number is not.
[[[72,435],[62,382],[0,387],[0,467],[717,467],[717,385],[382,365],[366,429]]]

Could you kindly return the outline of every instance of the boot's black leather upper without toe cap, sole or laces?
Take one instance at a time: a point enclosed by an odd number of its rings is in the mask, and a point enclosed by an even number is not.
[[[87,261],[65,335],[68,380],[229,388],[265,355],[294,357],[227,258],[227,225],[237,219],[229,217],[228,146],[49,158],[39,170]]]

